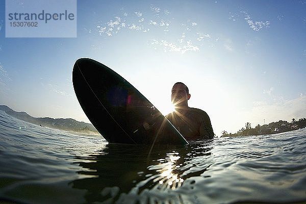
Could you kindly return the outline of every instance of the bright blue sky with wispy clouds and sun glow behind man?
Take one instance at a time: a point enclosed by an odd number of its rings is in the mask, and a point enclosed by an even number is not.
[[[15,111],[89,122],[71,80],[88,57],[164,115],[185,83],[217,136],[306,117],[306,0],[78,0],[72,38],[8,38],[4,0],[0,9],[0,104]]]

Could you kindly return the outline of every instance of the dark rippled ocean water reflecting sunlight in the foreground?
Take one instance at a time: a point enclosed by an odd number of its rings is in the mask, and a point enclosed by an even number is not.
[[[0,202],[305,201],[305,129],[151,149],[0,112]]]

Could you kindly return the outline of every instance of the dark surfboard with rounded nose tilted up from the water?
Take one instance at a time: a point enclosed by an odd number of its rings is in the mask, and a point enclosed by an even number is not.
[[[146,97],[106,65],[78,59],[72,83],[84,113],[109,143],[188,144]]]

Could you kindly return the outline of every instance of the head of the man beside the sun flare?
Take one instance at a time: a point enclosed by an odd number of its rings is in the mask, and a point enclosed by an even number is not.
[[[188,107],[190,98],[188,87],[182,82],[176,82],[171,89],[171,101],[175,107]]]

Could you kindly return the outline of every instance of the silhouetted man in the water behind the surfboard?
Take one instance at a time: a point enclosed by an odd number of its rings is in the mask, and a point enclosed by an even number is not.
[[[166,118],[187,141],[214,138],[208,114],[200,109],[188,107],[190,96],[184,83],[175,83],[171,90],[171,101],[175,111],[166,115]]]

